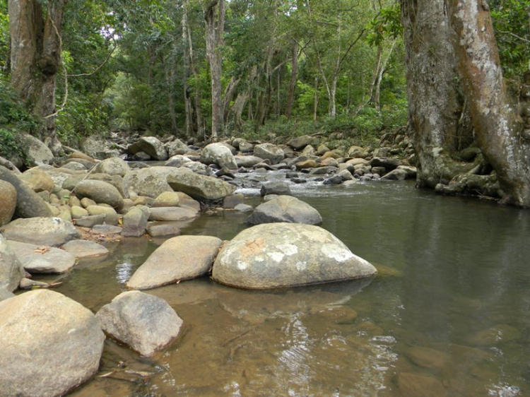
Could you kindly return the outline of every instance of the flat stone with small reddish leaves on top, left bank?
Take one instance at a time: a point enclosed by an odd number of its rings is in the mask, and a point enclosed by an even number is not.
[[[76,257],[54,247],[25,242],[9,242],[9,247],[29,273],[66,273],[76,264]]]

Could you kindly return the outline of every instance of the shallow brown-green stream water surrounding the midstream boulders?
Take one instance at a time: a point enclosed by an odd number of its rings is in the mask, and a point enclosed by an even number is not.
[[[201,278],[150,290],[182,317],[182,337],[151,358],[107,340],[98,377],[73,395],[530,395],[529,211],[406,182],[293,193],[377,278],[276,292]],[[230,239],[247,215],[214,212],[182,231]],[[81,263],[57,290],[95,312],[161,242],[108,244],[110,256]]]

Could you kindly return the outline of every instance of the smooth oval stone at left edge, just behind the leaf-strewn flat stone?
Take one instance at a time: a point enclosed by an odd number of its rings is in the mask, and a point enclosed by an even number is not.
[[[61,218],[20,218],[1,227],[0,231],[9,240],[50,247],[81,238],[76,227]]]

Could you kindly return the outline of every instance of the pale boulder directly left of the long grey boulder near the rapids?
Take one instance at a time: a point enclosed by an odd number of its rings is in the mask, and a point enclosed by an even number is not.
[[[148,167],[125,175],[124,181],[139,196],[156,198],[164,191],[173,191],[167,184],[167,176],[175,172],[174,167]]]

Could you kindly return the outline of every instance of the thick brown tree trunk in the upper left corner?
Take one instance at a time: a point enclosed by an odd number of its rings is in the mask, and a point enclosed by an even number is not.
[[[55,139],[55,77],[61,65],[61,25],[67,0],[9,0],[11,85],[45,119],[42,140]]]

